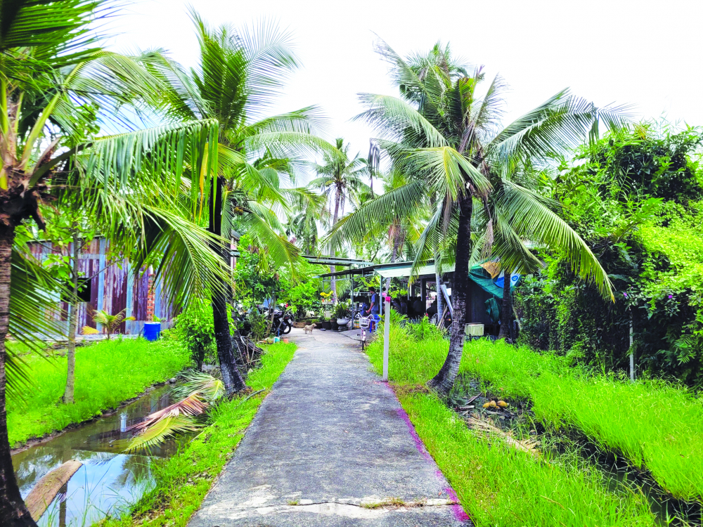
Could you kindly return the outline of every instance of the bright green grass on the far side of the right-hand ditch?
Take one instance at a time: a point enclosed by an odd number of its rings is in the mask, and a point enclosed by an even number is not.
[[[460,371],[506,397],[529,399],[543,424],[586,434],[648,469],[675,497],[703,500],[703,401],[691,393],[662,382],[585,375],[561,357],[500,341],[467,344]]]

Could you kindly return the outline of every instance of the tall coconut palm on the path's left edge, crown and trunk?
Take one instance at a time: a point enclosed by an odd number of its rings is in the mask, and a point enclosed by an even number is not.
[[[209,27],[191,10],[200,46],[198,67],[186,71],[162,58],[154,68],[167,85],[162,110],[176,121],[217,119],[218,176],[192,183],[193,217],[198,203],[207,204],[208,230],[229,238],[236,223],[276,263],[297,260],[297,248],[283,237],[276,212],[285,211],[292,191],[283,190],[279,176],[290,176],[302,152],[330,149],[311,134],[318,117],[314,107],[266,115],[297,67],[290,34],[262,22],[257,27]],[[228,261],[228,246],[215,249]],[[211,292],[217,354],[228,394],[245,387],[236,369],[227,305],[231,281]],[[235,330],[236,331],[236,330]],[[236,335],[236,337],[238,337]],[[236,342],[241,339],[236,338]]]

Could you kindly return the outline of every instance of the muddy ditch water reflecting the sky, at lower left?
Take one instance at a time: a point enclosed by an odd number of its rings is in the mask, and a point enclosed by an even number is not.
[[[117,441],[131,436],[126,431],[131,424],[170,403],[169,386],[162,386],[112,415],[13,455],[22,497],[63,462],[83,462],[41,516],[39,526],[89,526],[108,514],[118,516],[136,502],[153,486],[153,460],[168,457],[178,445],[169,441],[148,452],[128,455],[120,453]]]

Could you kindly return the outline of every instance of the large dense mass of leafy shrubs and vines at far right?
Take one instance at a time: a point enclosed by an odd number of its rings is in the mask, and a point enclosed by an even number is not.
[[[640,375],[703,386],[702,137],[638,125],[562,166],[553,196],[618,293],[602,301],[560,254],[546,254],[546,271],[517,289],[521,341],[617,370],[628,367],[632,317]]]

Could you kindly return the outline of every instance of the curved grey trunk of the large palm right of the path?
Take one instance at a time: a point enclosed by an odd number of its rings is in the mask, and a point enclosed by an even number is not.
[[[464,325],[467,315],[467,299],[469,297],[469,259],[471,257],[471,214],[472,201],[470,195],[460,197],[459,228],[456,234],[456,267],[454,280],[451,284],[454,317],[451,321],[449,353],[444,365],[427,386],[437,391],[440,396],[449,394],[454,380],[459,372],[461,354],[464,350]]]

